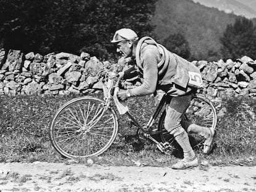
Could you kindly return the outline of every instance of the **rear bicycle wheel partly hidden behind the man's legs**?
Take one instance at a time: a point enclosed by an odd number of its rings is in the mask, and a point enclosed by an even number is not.
[[[167,130],[164,128],[164,119],[166,116],[166,111],[164,110],[163,114],[161,114],[158,130],[160,133],[160,140],[165,143],[166,141],[171,144],[175,148],[176,141],[174,140],[174,136],[170,135]],[[192,101],[190,102],[189,107],[187,108],[184,118],[189,120],[192,123],[203,127],[211,127],[213,130],[216,128],[217,124],[217,114],[216,109],[213,103],[205,98],[204,96],[196,95]]]

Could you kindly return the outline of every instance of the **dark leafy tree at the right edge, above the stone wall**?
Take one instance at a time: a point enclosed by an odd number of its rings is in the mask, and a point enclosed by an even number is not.
[[[256,59],[256,30],[252,20],[240,17],[229,24],[221,37],[224,59],[249,56]]]

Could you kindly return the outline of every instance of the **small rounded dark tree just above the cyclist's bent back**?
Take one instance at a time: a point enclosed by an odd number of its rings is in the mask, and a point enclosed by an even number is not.
[[[189,59],[190,57],[189,42],[181,33],[169,35],[168,38],[163,41],[163,45],[169,51],[174,52],[185,59]]]

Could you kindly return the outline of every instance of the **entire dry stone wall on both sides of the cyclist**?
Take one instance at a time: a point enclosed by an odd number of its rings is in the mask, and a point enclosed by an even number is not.
[[[60,52],[41,56],[30,52],[0,49],[0,94],[87,94],[100,91],[96,74],[111,68],[86,52],[80,56]],[[256,96],[256,61],[247,56],[237,61],[193,61],[203,75],[202,93],[208,98]],[[122,70],[121,67],[119,70]]]

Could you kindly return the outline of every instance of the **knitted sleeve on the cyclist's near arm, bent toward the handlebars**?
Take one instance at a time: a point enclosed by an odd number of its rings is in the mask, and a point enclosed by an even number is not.
[[[144,96],[152,94],[156,90],[158,80],[158,49],[145,49],[142,55],[142,66],[143,66],[143,83],[130,90],[131,96]]]

